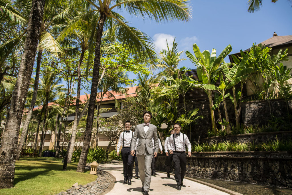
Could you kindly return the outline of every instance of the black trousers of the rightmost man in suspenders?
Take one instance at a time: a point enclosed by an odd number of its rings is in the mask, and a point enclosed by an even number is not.
[[[187,154],[173,151],[174,178],[178,186],[183,182],[187,170]]]

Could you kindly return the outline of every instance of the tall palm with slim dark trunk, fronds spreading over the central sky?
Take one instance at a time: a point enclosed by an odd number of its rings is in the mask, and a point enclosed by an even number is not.
[[[92,7],[92,11],[100,13],[99,20],[97,21],[96,31],[96,45],[95,45],[95,58],[93,64],[93,78],[91,85],[91,94],[89,99],[88,117],[86,121],[86,132],[84,136],[84,144],[81,151],[80,160],[78,163],[77,171],[84,172],[89,141],[91,137],[91,129],[93,125],[93,116],[95,109],[95,99],[97,93],[97,85],[99,78],[99,65],[100,65],[100,45],[103,33],[103,28],[109,29],[114,25],[118,25],[117,38],[122,45],[127,48],[134,56],[140,57],[141,61],[148,59],[155,61],[156,57],[153,51],[153,46],[150,43],[149,37],[140,32],[140,30],[130,27],[124,21],[124,18],[118,13],[114,12],[114,8],[121,10],[124,8],[131,15],[141,15],[143,18],[149,16],[150,18],[160,22],[162,20],[183,20],[186,21],[190,18],[190,9],[185,0],[156,0],[156,1],[119,1],[114,4],[113,1],[104,0],[93,2],[86,0]]]

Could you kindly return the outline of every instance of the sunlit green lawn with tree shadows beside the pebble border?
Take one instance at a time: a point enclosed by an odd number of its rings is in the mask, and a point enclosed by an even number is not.
[[[20,158],[15,165],[14,187],[0,189],[0,194],[58,194],[69,189],[75,182],[84,185],[95,181],[96,175],[76,172],[78,163],[67,165],[63,170],[62,158]]]

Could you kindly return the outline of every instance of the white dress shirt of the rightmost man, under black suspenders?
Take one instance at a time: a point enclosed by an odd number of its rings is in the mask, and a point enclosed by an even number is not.
[[[174,141],[175,141],[175,143],[173,141],[173,135],[174,135]],[[179,135],[176,135],[176,133],[175,133],[173,135],[171,135],[169,137],[169,139],[168,139],[168,144],[167,144],[168,150],[180,151],[180,152],[186,151],[186,148],[183,145],[183,142],[184,142],[183,135],[184,135],[184,137],[185,137],[185,144],[187,145],[187,149],[188,149],[189,152],[191,152],[192,145],[191,145],[191,142],[190,142],[189,138],[187,138],[187,135],[186,134],[179,133]],[[175,150],[174,144],[175,144],[176,150]]]

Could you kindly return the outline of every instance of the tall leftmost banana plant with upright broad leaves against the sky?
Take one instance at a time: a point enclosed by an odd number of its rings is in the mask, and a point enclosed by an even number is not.
[[[201,53],[197,44],[193,44],[194,54],[186,51],[187,57],[197,67],[197,74],[199,77],[199,84],[195,84],[195,87],[200,87],[206,92],[209,100],[209,109],[211,114],[211,124],[214,134],[217,134],[217,128],[215,124],[215,115],[212,99],[212,92],[215,89],[215,83],[219,79],[218,68],[224,62],[224,58],[231,52],[232,47],[228,45],[222,52],[216,57],[216,49],[212,49],[212,52],[205,50]]]

